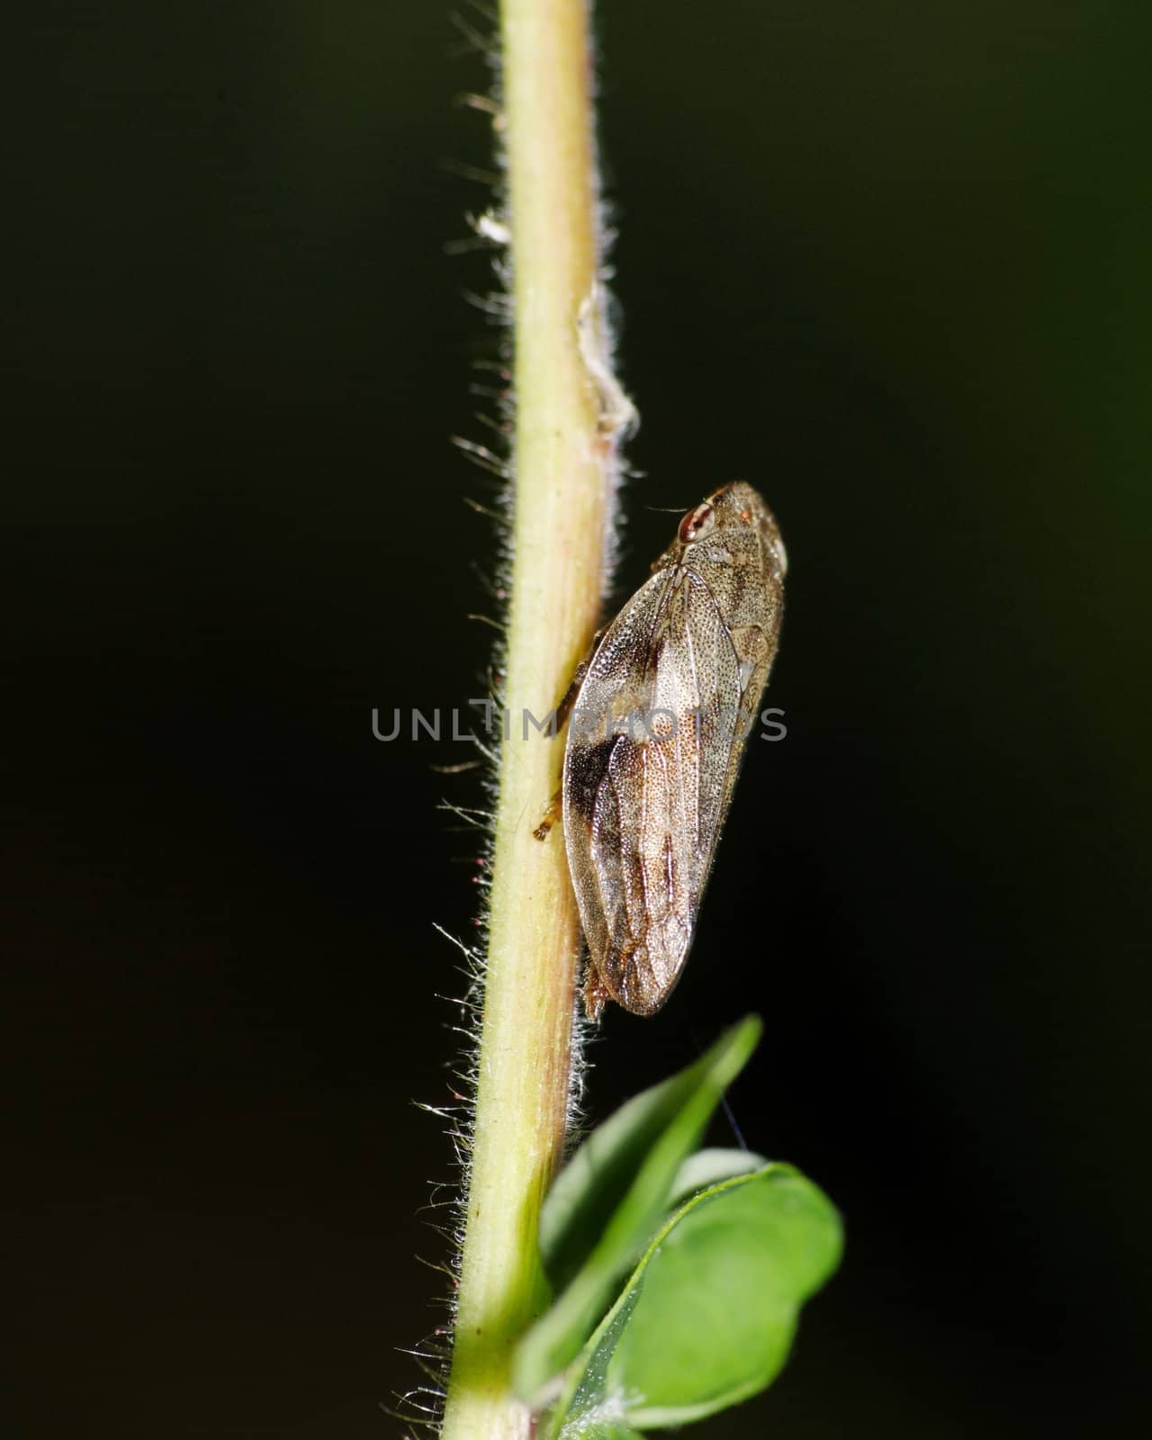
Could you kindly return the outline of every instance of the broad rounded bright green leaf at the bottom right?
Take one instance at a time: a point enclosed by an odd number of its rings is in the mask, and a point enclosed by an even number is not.
[[[680,1426],[755,1395],[779,1374],[799,1308],[840,1253],[840,1217],[789,1165],[690,1200],[586,1345],[544,1433]]]

